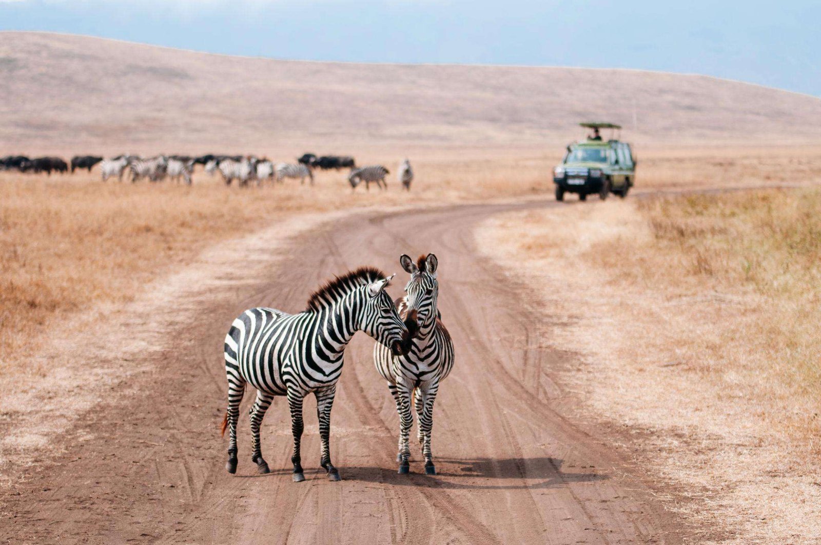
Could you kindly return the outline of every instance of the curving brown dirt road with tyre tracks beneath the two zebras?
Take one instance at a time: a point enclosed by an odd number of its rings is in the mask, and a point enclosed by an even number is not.
[[[103,405],[60,437],[53,461],[4,498],[9,543],[680,543],[677,520],[630,476],[603,437],[556,407],[566,392],[552,373],[572,355],[551,350],[527,294],[475,251],[472,227],[525,205],[372,213],[297,237],[291,259],[255,282],[215,291],[199,319],[169,331],[167,348],[141,361]],[[456,367],[434,411],[440,472],[424,475],[418,452],[398,475],[398,419],[374,370],[373,341],[346,353],[332,419],[341,483],[319,465],[314,405],[306,402],[305,483],[291,482],[287,403],[263,424],[273,473],[250,461],[246,393],[236,476],[223,469],[218,435],[225,406],[222,338],[241,310],[296,312],[334,273],[361,264],[401,272],[402,253],[434,252],[440,309]],[[236,264],[237,268],[243,266]],[[404,285],[389,288],[398,295]],[[98,334],[105,335],[104,330]],[[314,466],[314,468],[312,468]],[[633,471],[635,473],[635,469]]]

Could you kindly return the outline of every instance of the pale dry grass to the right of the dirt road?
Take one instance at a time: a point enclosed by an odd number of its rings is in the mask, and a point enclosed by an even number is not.
[[[821,536],[819,206],[818,189],[608,201],[479,233],[565,324],[545,335],[585,356],[570,388],[628,426],[699,543]]]

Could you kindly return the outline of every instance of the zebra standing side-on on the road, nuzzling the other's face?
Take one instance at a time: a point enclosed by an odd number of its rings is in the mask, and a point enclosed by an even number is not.
[[[228,473],[236,473],[236,420],[248,383],[257,391],[250,410],[251,460],[257,471],[269,472],[259,445],[259,426],[273,397],[287,396],[294,436],[293,480],[305,480],[300,458],[302,402],[313,393],[322,440],[320,464],[328,472],[328,479],[340,479],[331,463],[328,439],[345,348],[360,330],[390,346],[388,350],[397,355],[406,344],[408,330],[385,291],[394,276],[386,277],[376,268],[357,268],[314,291],[308,308],[300,314],[256,308],[234,320],[225,337],[228,408],[222,419],[222,434],[226,428],[229,430]]]

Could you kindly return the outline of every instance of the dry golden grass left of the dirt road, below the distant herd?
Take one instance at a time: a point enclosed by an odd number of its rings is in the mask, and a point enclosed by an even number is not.
[[[521,176],[503,176],[513,163]],[[247,190],[202,173],[189,188],[103,184],[96,172],[50,179],[0,172],[0,373],[30,369],[24,356],[55,318],[131,300],[220,240],[303,212],[527,195],[541,170],[535,159],[498,157],[420,158],[415,168],[410,195],[394,178],[388,192],[353,193],[342,171],[320,172],[313,188],[291,181]]]

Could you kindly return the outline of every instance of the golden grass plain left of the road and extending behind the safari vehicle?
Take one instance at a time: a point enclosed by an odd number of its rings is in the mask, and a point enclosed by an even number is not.
[[[130,300],[146,282],[221,240],[303,212],[550,195],[550,172],[562,150],[411,149],[416,179],[410,194],[395,181],[396,160],[355,151],[361,163],[394,170],[390,190],[352,192],[345,171],[319,172],[314,187],[288,181],[247,189],[225,187],[202,172],[191,187],[103,183],[96,171],[50,178],[0,172],[0,371],[21,369],[22,356],[36,348],[55,318],[99,302]],[[818,149],[637,153],[639,188],[821,177]],[[389,157],[402,155],[393,150]]]

